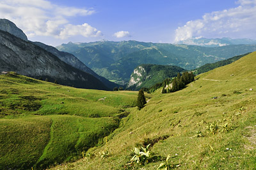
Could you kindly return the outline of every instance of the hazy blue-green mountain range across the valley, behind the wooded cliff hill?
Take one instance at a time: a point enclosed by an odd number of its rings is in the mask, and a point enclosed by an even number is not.
[[[192,70],[256,50],[256,45],[200,47],[170,43],[136,41],[62,44],[56,49],[74,54],[94,72],[114,81],[128,82],[136,66],[141,64],[176,65]]]

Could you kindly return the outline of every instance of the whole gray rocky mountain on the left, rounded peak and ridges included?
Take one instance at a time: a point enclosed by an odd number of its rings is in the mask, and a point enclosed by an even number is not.
[[[77,88],[112,89],[115,83],[100,77],[67,52],[40,42],[30,42],[21,29],[6,19],[0,20],[0,69],[29,77],[55,80]]]

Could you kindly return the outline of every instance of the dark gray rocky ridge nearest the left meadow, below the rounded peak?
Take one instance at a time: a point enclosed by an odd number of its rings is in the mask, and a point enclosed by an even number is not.
[[[89,73],[61,61],[47,50],[0,31],[0,71],[47,78],[77,88],[108,89]]]

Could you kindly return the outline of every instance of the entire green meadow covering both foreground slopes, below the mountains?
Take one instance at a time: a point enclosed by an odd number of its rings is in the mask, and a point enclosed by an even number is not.
[[[253,52],[145,94],[140,111],[136,91],[0,75],[0,169],[256,169],[255,63]],[[150,157],[132,162],[148,144]]]

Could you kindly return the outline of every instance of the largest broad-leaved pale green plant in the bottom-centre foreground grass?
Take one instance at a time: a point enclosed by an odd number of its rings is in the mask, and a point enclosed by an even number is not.
[[[140,148],[135,147],[135,155],[131,158],[131,164],[133,164],[134,162],[136,162],[137,164],[145,164],[146,162],[148,162],[148,158],[151,157],[151,152],[148,150],[149,146],[150,144],[148,144],[146,148],[143,148],[141,146],[141,150]]]

